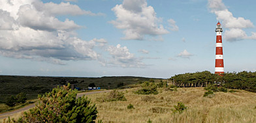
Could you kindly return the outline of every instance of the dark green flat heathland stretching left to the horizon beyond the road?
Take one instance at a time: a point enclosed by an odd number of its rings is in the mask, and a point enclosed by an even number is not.
[[[38,94],[49,92],[57,85],[75,84],[80,89],[87,89],[89,83],[95,83],[101,89],[124,88],[127,85],[147,81],[146,77],[31,77],[0,75],[0,103],[20,92],[27,94],[27,100],[36,99]]]

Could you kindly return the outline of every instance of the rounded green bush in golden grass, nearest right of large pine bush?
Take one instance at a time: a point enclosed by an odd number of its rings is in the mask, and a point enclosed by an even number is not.
[[[109,102],[126,101],[126,98],[125,98],[125,95],[123,94],[123,92],[119,92],[118,90],[112,90],[112,91],[110,91],[106,100]]]

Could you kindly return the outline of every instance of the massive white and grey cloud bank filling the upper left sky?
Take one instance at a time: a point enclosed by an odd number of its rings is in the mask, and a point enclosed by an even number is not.
[[[81,40],[74,33],[80,25],[68,18],[65,21],[56,18],[56,15],[86,15],[86,12],[69,3],[0,1],[0,55],[53,64],[97,60],[101,56],[94,49],[106,44],[106,40]]]

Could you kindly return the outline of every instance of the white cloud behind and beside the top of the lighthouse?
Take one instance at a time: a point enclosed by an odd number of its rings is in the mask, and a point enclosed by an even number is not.
[[[227,28],[224,34],[225,40],[234,42],[249,38],[253,39],[253,35],[247,36],[246,32],[242,30],[245,28],[253,28],[253,23],[242,17],[234,17],[227,7],[225,7],[222,0],[208,0],[208,8],[210,8],[212,13],[216,14],[217,20],[222,21],[223,27]]]

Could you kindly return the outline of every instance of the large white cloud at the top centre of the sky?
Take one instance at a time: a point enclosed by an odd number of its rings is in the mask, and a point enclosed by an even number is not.
[[[123,29],[125,40],[143,40],[145,35],[157,36],[168,31],[159,25],[155,10],[147,6],[146,0],[124,0],[122,5],[112,8],[116,20],[110,21],[116,28]]]

